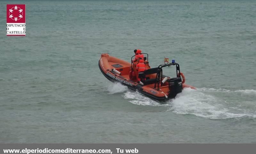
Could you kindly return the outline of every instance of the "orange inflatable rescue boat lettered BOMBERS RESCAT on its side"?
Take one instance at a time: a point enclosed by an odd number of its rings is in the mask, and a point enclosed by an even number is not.
[[[138,72],[136,70],[137,62],[133,62],[134,56],[131,58],[131,63],[118,59],[108,54],[101,54],[99,60],[99,68],[101,73],[112,82],[119,82],[132,90],[137,90],[152,99],[164,101],[173,99],[182,92],[184,88],[196,89],[193,86],[185,84],[185,76],[180,72],[178,63],[161,64],[156,68],[150,68],[148,63],[148,54],[144,57],[144,63],[147,70],[143,73],[143,79],[138,83]],[[168,77],[163,75],[163,68],[166,66],[176,67],[176,77]],[[183,80],[181,80],[181,77]]]

